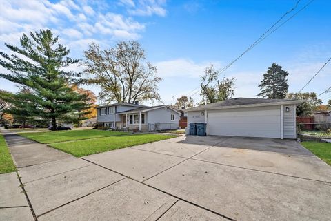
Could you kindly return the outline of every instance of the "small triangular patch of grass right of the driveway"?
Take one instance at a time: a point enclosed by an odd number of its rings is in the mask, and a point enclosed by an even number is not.
[[[324,160],[328,165],[331,165],[331,143],[305,141],[301,144],[313,154]]]

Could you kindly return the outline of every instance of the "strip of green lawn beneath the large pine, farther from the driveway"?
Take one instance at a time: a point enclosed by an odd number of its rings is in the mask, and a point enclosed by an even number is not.
[[[57,143],[63,141],[103,138],[106,136],[118,136],[126,134],[128,134],[128,132],[103,131],[98,129],[19,133],[19,135],[31,140],[36,140],[39,143]]]

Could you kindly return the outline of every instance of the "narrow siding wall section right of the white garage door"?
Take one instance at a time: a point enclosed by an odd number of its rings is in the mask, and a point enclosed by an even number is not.
[[[286,112],[286,107],[289,107],[288,112]],[[295,116],[295,105],[283,105],[283,128],[285,139],[297,138]]]

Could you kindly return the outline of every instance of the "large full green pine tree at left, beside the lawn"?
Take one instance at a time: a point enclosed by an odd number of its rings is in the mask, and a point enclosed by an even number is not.
[[[50,30],[23,34],[21,47],[5,43],[14,52],[0,52],[0,65],[10,74],[1,78],[17,83],[25,91],[8,94],[12,107],[8,113],[28,116],[34,120],[49,120],[52,129],[59,122],[74,122],[88,109],[88,96],[70,88],[70,83],[81,73],[66,71],[66,67],[78,63],[78,59],[67,57],[70,50],[58,43],[59,36]]]

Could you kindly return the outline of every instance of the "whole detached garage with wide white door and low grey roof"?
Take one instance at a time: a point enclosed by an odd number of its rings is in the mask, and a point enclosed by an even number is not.
[[[287,99],[232,98],[185,109],[190,123],[206,123],[207,135],[297,138],[296,106]],[[189,133],[186,129],[186,134]]]

